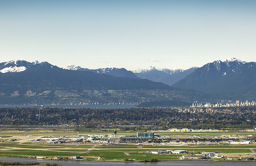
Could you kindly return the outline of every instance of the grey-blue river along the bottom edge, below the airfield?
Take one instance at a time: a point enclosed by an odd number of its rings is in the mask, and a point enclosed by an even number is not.
[[[161,162],[105,162],[105,161],[63,161],[29,158],[0,157],[1,162],[39,162],[63,166],[255,166],[256,162],[216,162],[216,161],[161,161]]]

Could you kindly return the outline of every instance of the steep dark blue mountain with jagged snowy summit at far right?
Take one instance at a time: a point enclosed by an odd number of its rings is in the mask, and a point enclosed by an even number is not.
[[[236,58],[217,60],[197,68],[173,87],[253,100],[256,97],[256,63]]]

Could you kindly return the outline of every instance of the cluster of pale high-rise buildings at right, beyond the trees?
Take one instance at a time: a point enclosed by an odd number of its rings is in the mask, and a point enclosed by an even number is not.
[[[211,104],[211,103],[202,104],[202,103],[197,103],[197,101],[196,101],[192,104],[191,107],[193,107],[193,108],[195,108],[195,107],[217,108],[217,107],[242,107],[242,106],[256,106],[256,102],[254,102],[254,101],[248,102],[248,100],[246,100],[246,102],[240,102],[239,100],[236,100],[235,103],[229,102],[229,103],[223,104],[221,102],[221,103],[216,103],[216,104]]]

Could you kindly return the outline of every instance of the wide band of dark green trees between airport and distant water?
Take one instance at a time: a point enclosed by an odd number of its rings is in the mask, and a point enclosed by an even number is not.
[[[193,108],[189,108],[193,109]],[[63,109],[0,108],[0,125],[152,125],[154,129],[246,129],[256,127],[256,107],[216,108],[212,112],[178,108]],[[124,130],[129,130],[124,127]]]

